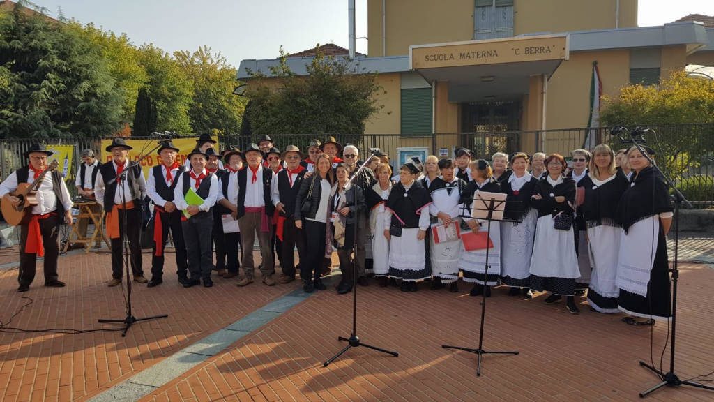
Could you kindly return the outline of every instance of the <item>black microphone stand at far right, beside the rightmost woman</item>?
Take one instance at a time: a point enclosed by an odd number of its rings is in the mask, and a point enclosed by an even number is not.
[[[670,368],[667,373],[663,373],[662,371],[658,370],[657,368],[654,368],[653,366],[650,366],[648,363],[645,363],[644,361],[640,361],[640,366],[643,366],[644,368],[647,368],[649,371],[653,371],[653,373],[657,374],[657,376],[662,380],[661,383],[658,383],[656,386],[653,386],[652,388],[648,389],[647,391],[640,392],[640,398],[644,398],[645,396],[648,396],[648,394],[653,393],[654,391],[657,391],[659,388],[662,388],[663,386],[693,386],[697,388],[704,388],[708,389],[710,391],[714,391],[714,387],[712,386],[705,386],[702,384],[698,383],[693,383],[687,380],[680,380],[679,377],[675,374],[674,371],[674,363],[675,363],[675,340],[676,340],[676,333],[677,333],[677,283],[679,280],[679,268],[678,268],[678,252],[679,252],[679,211],[680,207],[682,204],[684,204],[688,208],[692,208],[692,204],[682,195],[682,193],[675,187],[672,183],[672,181],[667,177],[667,175],[660,170],[660,168],[655,165],[655,162],[650,158],[650,155],[645,152],[645,150],[640,146],[640,142],[645,142],[644,139],[635,139],[635,136],[630,133],[630,131],[626,128],[623,128],[628,134],[630,134],[630,139],[623,139],[620,137],[620,141],[623,142],[624,144],[633,144],[637,149],[640,151],[640,154],[642,154],[645,159],[647,159],[650,162],[650,165],[654,168],[656,172],[659,172],[660,175],[662,175],[663,180],[665,181],[665,184],[670,187],[674,194],[674,222],[673,222],[673,228],[674,228],[674,262],[672,264],[672,268],[669,268],[669,272],[672,273],[672,340],[671,340],[671,345],[670,345]],[[666,240],[666,239],[665,239]]]

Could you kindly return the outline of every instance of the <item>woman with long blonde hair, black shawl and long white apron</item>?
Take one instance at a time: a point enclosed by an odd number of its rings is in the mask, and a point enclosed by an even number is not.
[[[588,227],[587,254],[593,273],[588,287],[590,309],[600,313],[618,312],[617,278],[620,233],[615,220],[618,202],[628,188],[627,177],[615,170],[615,153],[606,144],[593,149],[588,175],[580,180],[585,200],[580,212]]]

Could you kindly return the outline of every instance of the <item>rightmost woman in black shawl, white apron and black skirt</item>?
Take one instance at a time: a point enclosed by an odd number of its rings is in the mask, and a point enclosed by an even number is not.
[[[654,152],[642,147],[649,155]],[[632,325],[653,325],[654,320],[670,320],[670,275],[667,233],[673,208],[667,185],[637,147],[628,150],[633,177],[618,204],[617,219],[622,225],[618,257],[617,286],[620,311],[646,320],[625,317]]]

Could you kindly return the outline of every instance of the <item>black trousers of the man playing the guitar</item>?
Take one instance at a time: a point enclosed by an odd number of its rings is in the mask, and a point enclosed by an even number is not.
[[[59,235],[59,225],[62,217],[59,215],[49,215],[45,219],[39,220],[40,235],[44,246],[44,275],[45,283],[57,280],[57,256],[59,255],[59,245],[57,236]],[[35,253],[25,253],[27,244],[28,225],[20,226],[20,268],[17,274],[17,281],[20,285],[29,285],[35,279],[35,266],[37,255]]]

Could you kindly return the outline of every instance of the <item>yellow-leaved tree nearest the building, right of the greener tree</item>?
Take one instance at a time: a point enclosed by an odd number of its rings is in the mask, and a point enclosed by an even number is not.
[[[193,132],[237,133],[246,99],[233,94],[236,69],[226,63],[220,52],[213,54],[208,46],[193,53],[175,52],[174,59],[193,83],[188,109]]]

